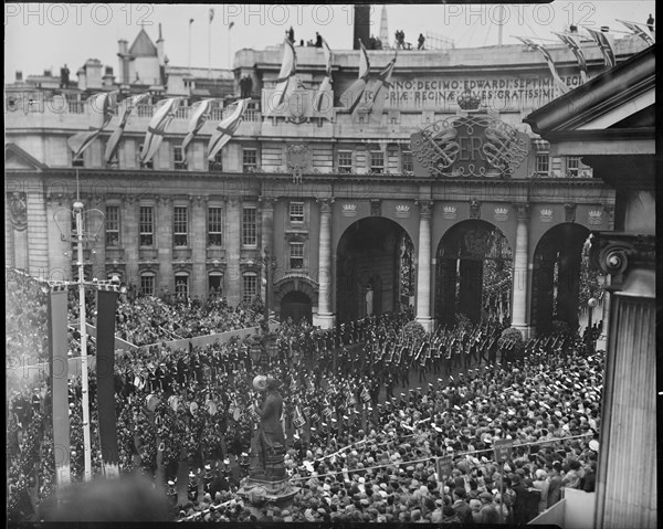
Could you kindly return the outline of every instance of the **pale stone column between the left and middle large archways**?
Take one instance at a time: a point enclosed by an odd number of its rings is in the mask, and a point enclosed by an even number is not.
[[[417,260],[417,321],[432,330],[431,318],[431,214],[432,200],[419,200],[419,255]]]

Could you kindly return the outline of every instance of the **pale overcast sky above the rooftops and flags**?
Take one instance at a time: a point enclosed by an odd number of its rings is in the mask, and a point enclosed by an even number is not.
[[[512,35],[550,39],[570,23],[625,31],[615,19],[645,22],[655,13],[654,1],[555,0],[551,4],[389,4],[390,40],[402,30],[406,41],[417,43],[419,33],[453,40],[456,47],[477,47],[498,42],[499,25],[505,44]],[[210,9],[214,10],[210,22]],[[382,4],[371,6],[371,28],[380,31]],[[117,41],[129,45],[143,25],[152,41],[162,25],[170,65],[225,68],[234,52],[262,50],[283,41],[292,25],[295,40],[308,41],[319,32],[333,50],[349,50],[352,42],[352,4],[151,4],[151,3],[6,3],[4,74],[13,82],[52,68],[59,75],[65,63],[75,72],[87,59],[113,66],[117,75]],[[193,22],[189,24],[189,21]],[[232,29],[229,30],[229,25]],[[190,28],[189,28],[190,27]],[[582,32],[582,30],[580,30]],[[615,32],[617,38],[623,36]],[[190,42],[189,42],[190,41]],[[539,41],[545,44],[546,41]]]

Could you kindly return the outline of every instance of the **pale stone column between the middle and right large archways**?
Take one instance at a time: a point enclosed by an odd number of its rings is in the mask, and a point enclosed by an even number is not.
[[[518,202],[514,204],[517,211],[516,226],[516,251],[514,252],[514,284],[512,304],[512,327],[515,327],[525,339],[529,338],[529,326],[527,325],[527,245],[529,204]]]

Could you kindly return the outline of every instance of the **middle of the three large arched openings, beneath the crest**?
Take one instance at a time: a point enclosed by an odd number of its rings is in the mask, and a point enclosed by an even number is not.
[[[463,314],[473,322],[511,316],[513,253],[504,233],[486,221],[452,226],[436,253],[435,318],[453,325]]]

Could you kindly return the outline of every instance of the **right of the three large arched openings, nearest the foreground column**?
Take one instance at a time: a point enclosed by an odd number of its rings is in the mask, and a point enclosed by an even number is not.
[[[582,246],[589,230],[566,222],[548,230],[534,251],[532,325],[548,332],[555,320],[578,329]]]

